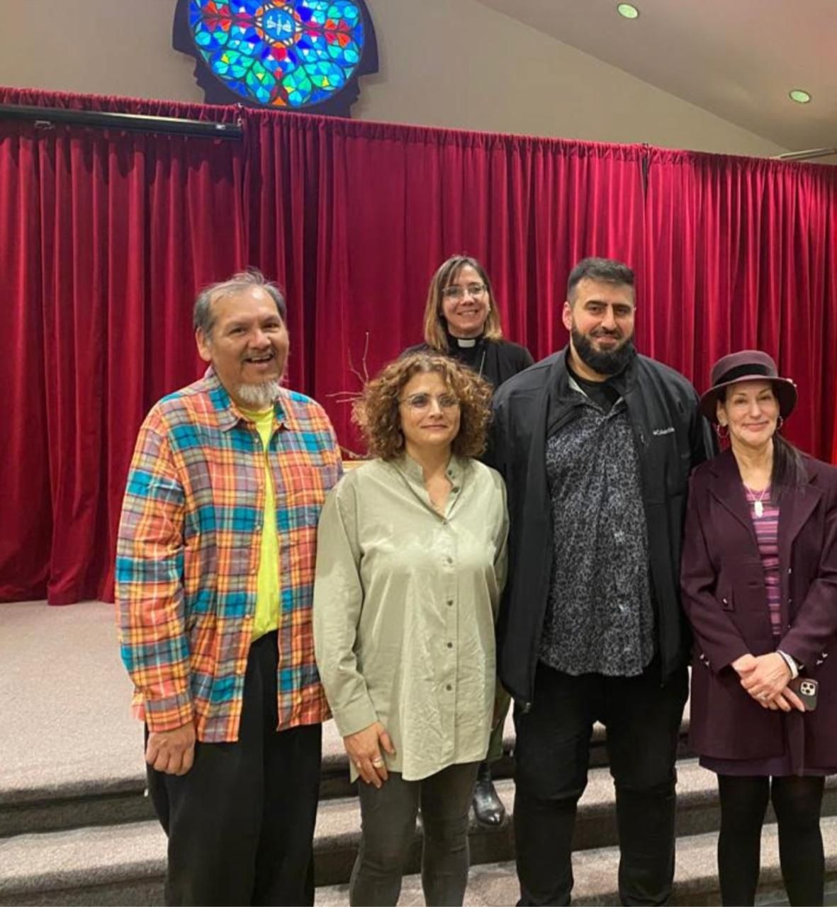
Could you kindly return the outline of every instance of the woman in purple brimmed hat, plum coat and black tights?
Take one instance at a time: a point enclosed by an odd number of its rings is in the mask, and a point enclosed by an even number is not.
[[[681,582],[695,634],[690,743],[718,775],[725,904],[754,903],[768,800],[790,902],[822,904],[822,790],[837,773],[837,469],[779,434],[795,404],[793,381],[758,350],[717,362],[701,398],[729,449],[692,475]]]

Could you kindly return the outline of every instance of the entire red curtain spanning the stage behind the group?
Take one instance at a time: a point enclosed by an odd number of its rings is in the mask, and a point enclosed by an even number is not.
[[[197,290],[248,264],[286,289],[289,385],[352,450],[347,396],[421,339],[434,268],[467,252],[536,357],[566,340],[573,263],[627,260],[643,352],[703,387],[715,358],[762,346],[800,385],[790,436],[837,454],[832,168],[20,90],[0,102],[245,127],[222,141],[0,123],[0,600],[110,596],[142,415],[200,374]]]

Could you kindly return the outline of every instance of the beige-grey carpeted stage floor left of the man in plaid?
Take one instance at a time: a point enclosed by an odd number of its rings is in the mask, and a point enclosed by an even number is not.
[[[141,775],[112,605],[0,605],[0,665],[0,797]]]

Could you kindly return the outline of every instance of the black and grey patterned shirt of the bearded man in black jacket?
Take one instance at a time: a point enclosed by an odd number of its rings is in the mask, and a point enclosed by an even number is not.
[[[624,401],[604,413],[585,396],[578,416],[547,439],[546,465],[554,557],[540,659],[572,675],[641,674],[654,656],[654,610]]]

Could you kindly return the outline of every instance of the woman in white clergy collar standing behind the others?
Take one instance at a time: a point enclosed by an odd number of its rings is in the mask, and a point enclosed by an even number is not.
[[[491,279],[476,258],[453,255],[436,270],[424,306],[424,343],[416,352],[441,353],[485,378],[494,388],[532,365],[529,350],[502,336],[500,310]],[[484,825],[500,825],[506,810],[491,780],[491,765],[502,757],[502,736],[511,700],[504,697],[473,793],[473,813]]]

